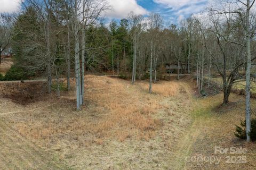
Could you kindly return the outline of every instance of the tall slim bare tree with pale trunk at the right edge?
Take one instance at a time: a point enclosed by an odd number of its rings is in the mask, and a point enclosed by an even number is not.
[[[232,7],[223,8],[222,10],[214,10],[217,11],[220,15],[225,15],[227,21],[230,21],[230,15],[235,15],[237,18],[237,22],[239,25],[243,27],[243,41],[238,40],[228,40],[227,37],[221,36],[221,38],[225,38],[226,41],[232,44],[236,44],[245,48],[246,54],[246,86],[245,86],[245,93],[246,93],[246,136],[247,141],[250,141],[250,131],[251,131],[251,103],[250,103],[250,91],[251,91],[251,62],[255,59],[251,57],[251,39],[255,33],[255,21],[254,17],[252,17],[252,7],[255,3],[255,0],[230,0],[227,1],[227,4]],[[245,64],[245,63],[244,63]],[[243,65],[244,65],[243,64]]]

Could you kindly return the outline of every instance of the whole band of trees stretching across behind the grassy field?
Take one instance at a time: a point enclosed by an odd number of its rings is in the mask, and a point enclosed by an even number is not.
[[[159,14],[133,12],[106,26],[101,16],[110,7],[105,0],[25,0],[9,30],[17,64],[45,73],[49,93],[53,76],[59,87],[59,78],[66,75],[70,89],[70,70],[75,72],[78,110],[83,104],[85,70],[132,73],[132,83],[149,74],[150,93],[157,74],[166,73],[166,64],[177,65],[178,79],[181,72],[194,73],[199,91],[210,85],[212,73],[217,72],[223,80],[223,104],[228,103],[233,84],[245,79],[249,132],[255,59],[251,54],[256,52],[253,4],[230,0],[191,16],[179,27],[164,25]]]

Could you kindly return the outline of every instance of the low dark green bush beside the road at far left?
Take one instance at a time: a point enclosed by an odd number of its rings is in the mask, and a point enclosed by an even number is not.
[[[12,65],[9,71],[7,71],[7,73],[5,74],[4,80],[6,81],[26,80],[33,75],[34,75],[33,72],[26,72],[25,69]]]

